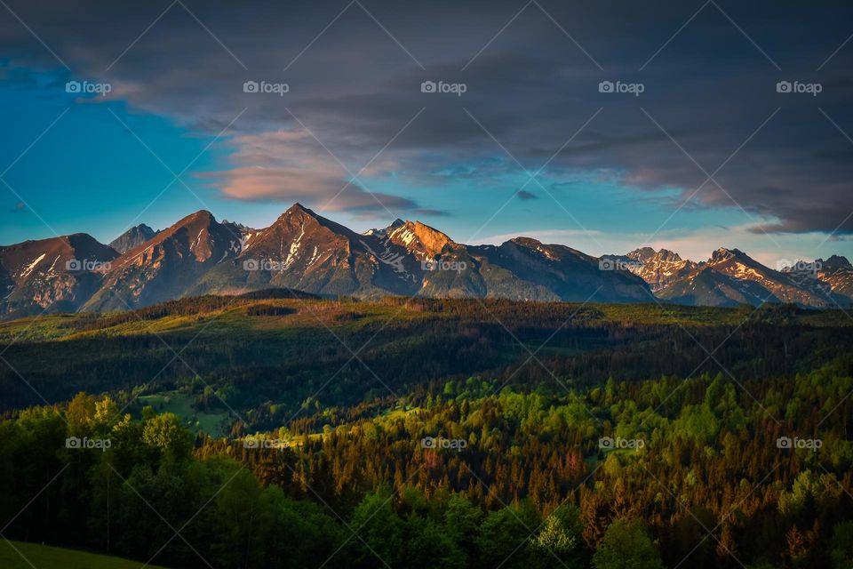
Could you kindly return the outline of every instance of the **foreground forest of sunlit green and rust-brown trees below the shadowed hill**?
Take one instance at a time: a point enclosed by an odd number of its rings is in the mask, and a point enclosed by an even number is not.
[[[0,421],[4,535],[187,569],[853,563],[841,361],[795,381],[498,387],[227,438],[110,397],[29,409]]]

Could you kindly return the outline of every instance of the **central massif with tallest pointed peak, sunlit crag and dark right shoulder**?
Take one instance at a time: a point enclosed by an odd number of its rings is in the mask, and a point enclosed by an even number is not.
[[[562,245],[518,238],[499,247],[468,246],[423,223],[402,220],[357,234],[299,204],[234,260],[219,263],[193,292],[241,287],[359,298],[649,299],[641,279],[624,271],[602,271],[598,259]]]

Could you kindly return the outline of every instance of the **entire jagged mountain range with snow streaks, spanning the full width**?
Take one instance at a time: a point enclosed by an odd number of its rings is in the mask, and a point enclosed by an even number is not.
[[[467,245],[419,221],[363,234],[294,204],[268,228],[200,211],[170,228],[129,229],[110,245],[75,234],[0,247],[0,316],[134,309],[187,295],[286,288],[375,299],[388,294],[520,301],[659,301],[700,306],[791,302],[847,307],[853,266],[765,267],[718,249],[682,260],[643,247],[597,258],[519,236]]]

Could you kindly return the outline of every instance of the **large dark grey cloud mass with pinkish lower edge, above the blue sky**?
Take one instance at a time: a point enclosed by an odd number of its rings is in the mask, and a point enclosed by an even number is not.
[[[701,3],[527,4],[497,37],[525,4],[459,4],[10,7],[72,76],[113,83],[111,96],[133,108],[211,133],[245,108],[229,130],[230,163],[208,174],[227,196],[313,193],[322,202],[370,163],[362,177],[398,172],[410,184],[409,195],[380,199],[416,210],[419,184],[532,173],[551,160],[546,174],[594,175],[638,192],[682,188],[682,198],[696,192],[689,207],[771,220],[756,231],[853,232],[853,142],[844,133],[853,132],[853,43],[827,61],[853,32],[844,3],[706,4],[674,38]],[[0,19],[0,45],[13,66],[60,66],[11,16]],[[244,93],[246,81],[289,92]],[[425,81],[465,92],[421,92]],[[643,91],[602,93],[602,81]],[[778,93],[779,81],[822,91]],[[462,163],[471,165],[453,167]],[[378,206],[370,191],[346,188],[339,207]]]

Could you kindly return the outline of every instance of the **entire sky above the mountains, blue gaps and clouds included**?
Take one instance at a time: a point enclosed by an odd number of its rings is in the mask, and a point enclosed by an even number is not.
[[[0,7],[0,244],[294,202],[594,255],[853,258],[853,6]]]

